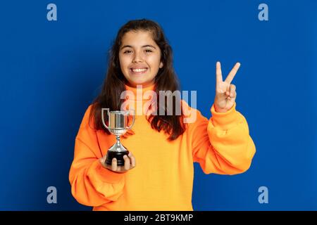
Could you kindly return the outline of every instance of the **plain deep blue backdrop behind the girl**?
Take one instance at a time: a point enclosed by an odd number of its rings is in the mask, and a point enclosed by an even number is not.
[[[46,6],[57,6],[57,21]],[[268,4],[268,21],[258,6]],[[194,210],[317,210],[316,1],[11,1],[0,7],[0,210],[91,210],[70,193],[82,116],[128,20],[163,27],[183,90],[210,117],[215,64],[233,80],[256,155],[244,174],[195,164]],[[46,203],[56,186],[57,204]],[[268,204],[258,201],[268,187]]]

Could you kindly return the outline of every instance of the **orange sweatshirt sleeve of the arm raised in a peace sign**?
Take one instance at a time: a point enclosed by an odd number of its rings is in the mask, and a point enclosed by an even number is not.
[[[247,120],[235,107],[236,103],[226,113],[217,113],[212,105],[209,120],[196,110],[190,129],[192,154],[205,174],[240,174],[251,165],[256,148]]]

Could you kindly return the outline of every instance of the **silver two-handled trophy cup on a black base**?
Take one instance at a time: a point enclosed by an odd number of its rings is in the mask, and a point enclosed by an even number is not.
[[[108,116],[108,126],[106,122],[104,122],[104,111],[107,111]],[[111,165],[112,159],[117,159],[117,165],[123,166],[125,165],[125,160],[123,159],[124,155],[128,155],[129,151],[120,143],[120,136],[125,134],[126,131],[131,129],[133,124],[135,123],[135,115],[132,115],[132,124],[128,126],[128,117],[130,115],[129,111],[110,111],[109,108],[101,109],[101,120],[104,124],[104,127],[108,129],[108,131],[116,135],[116,143],[108,149],[106,164]]]

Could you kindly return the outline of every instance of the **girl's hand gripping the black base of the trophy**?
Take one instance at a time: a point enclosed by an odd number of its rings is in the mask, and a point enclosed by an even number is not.
[[[104,168],[110,169],[113,172],[124,173],[127,172],[129,169],[133,169],[135,167],[135,157],[134,155],[132,155],[131,152],[129,153],[129,157],[128,155],[123,156],[123,159],[125,160],[124,166],[118,166],[116,158],[113,158],[111,165],[107,165],[106,158],[107,155],[104,155],[104,157],[100,158],[99,161]]]

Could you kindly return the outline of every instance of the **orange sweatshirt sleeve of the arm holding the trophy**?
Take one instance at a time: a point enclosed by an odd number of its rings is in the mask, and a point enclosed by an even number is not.
[[[125,174],[112,172],[99,162],[102,157],[97,133],[89,124],[87,109],[75,139],[75,153],[70,166],[71,192],[78,203],[98,206],[116,201],[123,193]]]

